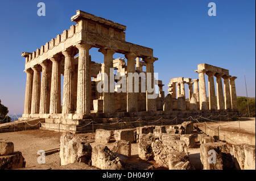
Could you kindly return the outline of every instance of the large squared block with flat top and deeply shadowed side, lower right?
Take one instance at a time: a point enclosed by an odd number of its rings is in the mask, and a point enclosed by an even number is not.
[[[201,144],[200,159],[204,170],[225,170],[234,168],[228,145],[224,142]]]

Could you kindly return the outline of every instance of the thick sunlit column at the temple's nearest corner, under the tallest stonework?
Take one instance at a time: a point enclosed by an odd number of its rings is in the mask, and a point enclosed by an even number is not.
[[[77,102],[76,113],[90,113],[91,98],[91,77],[90,77],[90,56],[89,50],[92,48],[88,44],[78,44],[79,62],[77,68]]]

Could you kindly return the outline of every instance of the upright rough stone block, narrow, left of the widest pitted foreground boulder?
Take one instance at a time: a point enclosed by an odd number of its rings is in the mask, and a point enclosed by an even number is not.
[[[139,144],[138,144],[138,153],[139,158],[143,160],[151,160],[154,158],[152,152],[152,141],[155,140],[155,137],[152,133],[148,134],[139,134]]]

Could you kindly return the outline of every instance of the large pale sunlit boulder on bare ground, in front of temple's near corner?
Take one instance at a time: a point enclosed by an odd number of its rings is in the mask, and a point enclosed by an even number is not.
[[[60,137],[60,163],[83,162],[90,163],[92,156],[92,146],[86,141],[84,136],[77,136],[71,132],[65,132]]]

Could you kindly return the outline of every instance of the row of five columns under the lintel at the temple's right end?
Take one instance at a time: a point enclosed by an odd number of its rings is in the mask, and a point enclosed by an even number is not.
[[[234,83],[234,80],[237,77],[231,77],[230,75],[205,70],[196,70],[196,72],[199,74],[200,110],[208,110],[205,74],[208,75],[209,110],[237,109],[236,86]],[[216,77],[217,99],[213,76]],[[224,79],[224,91],[222,87],[222,78]]]

